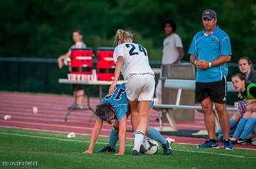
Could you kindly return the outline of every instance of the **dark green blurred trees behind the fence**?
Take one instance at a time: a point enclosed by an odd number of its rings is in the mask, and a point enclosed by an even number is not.
[[[161,59],[162,23],[174,18],[188,60],[193,35],[203,29],[201,13],[213,8],[218,24],[233,47],[233,60],[255,59],[256,5],[253,0],[165,1],[165,0],[0,0],[0,56],[57,58],[72,45],[71,33],[82,30],[88,46],[113,46],[118,28],[132,30],[136,41],[149,51],[150,59]]]

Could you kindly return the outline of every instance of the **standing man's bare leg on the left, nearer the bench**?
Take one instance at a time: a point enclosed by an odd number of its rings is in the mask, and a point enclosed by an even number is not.
[[[216,134],[215,134],[215,119],[213,115],[213,103],[210,100],[210,97],[205,98],[202,103],[202,108],[203,108],[203,117],[204,117],[204,122],[206,125],[206,130],[209,135],[209,139],[216,139]]]

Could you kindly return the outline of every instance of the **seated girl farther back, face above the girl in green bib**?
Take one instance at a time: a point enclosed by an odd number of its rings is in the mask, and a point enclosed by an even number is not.
[[[240,72],[245,75],[247,83],[256,83],[256,71],[253,69],[252,61],[248,57],[241,57],[238,61]],[[241,95],[239,94],[240,98]],[[241,119],[242,115],[245,114],[245,101],[238,101],[238,111],[233,114],[233,117],[230,118],[230,135],[235,132],[235,127]],[[221,129],[218,129],[218,139],[223,139],[223,132]]]

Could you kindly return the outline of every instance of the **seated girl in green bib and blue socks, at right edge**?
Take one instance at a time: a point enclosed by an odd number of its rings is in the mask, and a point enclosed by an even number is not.
[[[233,143],[246,142],[256,125],[256,83],[247,83],[246,78],[242,74],[232,76],[232,83],[236,91],[240,91],[240,95],[245,99],[245,114],[242,115],[235,133],[231,140]]]

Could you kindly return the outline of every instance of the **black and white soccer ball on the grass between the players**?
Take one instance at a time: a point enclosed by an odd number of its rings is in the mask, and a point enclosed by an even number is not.
[[[157,141],[150,138],[143,140],[142,147],[144,148],[144,153],[149,155],[155,154],[159,151],[159,144]]]

